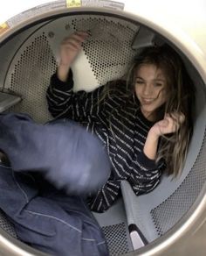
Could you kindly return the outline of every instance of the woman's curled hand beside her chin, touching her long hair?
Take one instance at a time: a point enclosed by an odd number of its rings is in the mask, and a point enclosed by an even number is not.
[[[164,134],[177,132],[184,120],[185,116],[182,113],[175,112],[166,114],[164,119],[152,126],[150,132],[153,132],[157,137]]]

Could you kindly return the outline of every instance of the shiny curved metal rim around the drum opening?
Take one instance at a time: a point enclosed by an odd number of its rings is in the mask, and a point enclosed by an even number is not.
[[[126,1],[121,1],[126,2]],[[48,3],[50,4],[50,3]],[[33,17],[25,16],[23,19],[19,20],[15,25],[10,28],[6,28],[6,23],[4,31],[0,32],[0,43],[8,39],[12,34],[24,29],[25,26],[38,23],[39,20],[46,20],[55,16],[64,16],[67,13],[75,12],[99,12],[106,13],[109,15],[119,16],[122,18],[128,18],[134,20],[134,22],[139,22],[144,25],[148,25],[155,32],[159,32],[169,41],[171,41],[176,47],[178,47],[182,53],[188,56],[189,60],[193,63],[196,70],[201,75],[203,82],[206,83],[206,53],[205,49],[201,48],[196,44],[196,38],[192,38],[187,33],[182,33],[182,30],[178,27],[168,30],[171,28],[171,24],[167,25],[161,24],[158,19],[152,20],[143,16],[143,12],[140,14],[134,14],[127,11],[112,11],[105,8],[97,7],[78,7],[78,8],[56,8],[55,10],[47,10],[45,6],[39,7],[39,12]],[[42,8],[42,11],[40,9]],[[138,13],[138,4],[136,7],[136,13]],[[26,12],[25,12],[26,13]],[[14,17],[15,18],[15,17]],[[206,19],[206,18],[205,18]],[[206,31],[206,30],[205,30]],[[142,248],[137,252],[137,255],[174,255],[174,253],[180,253],[181,247],[188,243],[187,252],[184,251],[181,255],[187,255],[189,252],[190,240],[194,239],[197,230],[202,230],[205,226],[205,210],[206,210],[206,186],[202,189],[202,193],[196,199],[196,203],[191,207],[189,212],[182,218],[182,220],[174,226],[167,234],[163,237],[158,238],[150,245]],[[178,225],[178,228],[176,227]],[[198,231],[197,231],[198,233]],[[193,235],[193,237],[192,237]],[[27,245],[21,245],[22,243],[16,243],[12,241],[8,236],[6,236],[4,231],[0,231],[0,254],[4,255],[45,255],[44,253],[31,249]],[[19,247],[20,246],[20,247]],[[21,249],[22,248],[22,249]],[[22,251],[24,250],[24,251]],[[185,249],[186,250],[186,249]],[[23,254],[24,253],[24,254]],[[38,254],[35,254],[38,253]],[[1,255],[3,255],[1,254]],[[134,252],[128,253],[127,255],[134,255]]]

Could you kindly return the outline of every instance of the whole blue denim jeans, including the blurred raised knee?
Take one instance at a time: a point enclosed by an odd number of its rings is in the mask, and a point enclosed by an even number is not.
[[[0,115],[0,149],[10,161],[0,166],[0,209],[19,239],[52,255],[108,255],[83,199],[110,174],[99,139],[66,120],[9,113]]]

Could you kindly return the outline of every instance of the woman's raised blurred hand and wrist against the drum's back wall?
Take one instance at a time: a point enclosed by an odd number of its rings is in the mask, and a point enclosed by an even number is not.
[[[59,51],[60,60],[58,64],[58,78],[61,81],[66,81],[72,62],[77,57],[81,49],[81,45],[87,36],[87,32],[74,32],[62,41]]]

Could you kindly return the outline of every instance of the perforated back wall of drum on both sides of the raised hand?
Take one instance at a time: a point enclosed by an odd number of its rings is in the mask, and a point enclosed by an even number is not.
[[[73,31],[90,33],[83,49],[100,85],[124,75],[135,54],[131,43],[138,29],[139,25],[119,18],[98,15],[58,18],[39,28],[24,41],[10,63],[4,87],[23,98],[22,103],[11,110],[26,112],[41,123],[51,119],[45,93],[57,68],[55,47],[59,46],[60,38]],[[81,74],[83,80],[84,75],[89,74]]]

